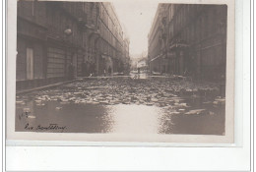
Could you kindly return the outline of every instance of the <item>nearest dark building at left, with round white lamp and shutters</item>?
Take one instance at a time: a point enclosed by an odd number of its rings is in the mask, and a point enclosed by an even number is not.
[[[78,75],[86,15],[79,3],[18,1],[17,89],[43,86]]]

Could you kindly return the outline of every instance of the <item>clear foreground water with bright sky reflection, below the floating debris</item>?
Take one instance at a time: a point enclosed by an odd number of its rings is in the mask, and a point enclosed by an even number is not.
[[[185,115],[175,109],[147,105],[94,105],[62,104],[48,101],[36,106],[32,101],[26,107],[32,109],[29,117],[21,117],[23,106],[17,106],[16,130],[25,129],[26,124],[35,132],[68,133],[123,133],[123,134],[212,134],[224,133],[224,108],[213,110],[213,114]],[[32,116],[34,115],[34,118]],[[38,126],[57,124],[62,130],[35,130]]]

